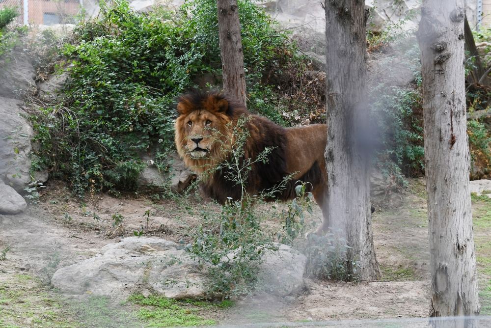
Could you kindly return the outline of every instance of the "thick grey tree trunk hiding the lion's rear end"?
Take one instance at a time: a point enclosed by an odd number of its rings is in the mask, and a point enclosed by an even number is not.
[[[325,1],[326,115],[328,175],[323,228],[340,229],[351,247],[347,271],[361,280],[380,277],[372,235],[369,154],[363,150],[368,108],[366,81],[366,12],[364,1]],[[365,124],[365,125],[364,125]],[[358,267],[353,267],[356,261]]]

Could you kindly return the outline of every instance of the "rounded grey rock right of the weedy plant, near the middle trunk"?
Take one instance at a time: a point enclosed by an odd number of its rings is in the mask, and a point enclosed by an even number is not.
[[[274,244],[278,251],[264,255],[259,281],[265,292],[283,297],[297,292],[303,286],[307,258],[290,246]]]

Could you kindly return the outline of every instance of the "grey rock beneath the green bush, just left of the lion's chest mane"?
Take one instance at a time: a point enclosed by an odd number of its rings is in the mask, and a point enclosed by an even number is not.
[[[179,193],[189,187],[196,174],[186,167],[177,154],[170,157],[170,169],[164,173],[161,173],[153,160],[143,158],[148,166],[138,178],[137,185],[140,190],[165,191],[170,188],[172,192]]]

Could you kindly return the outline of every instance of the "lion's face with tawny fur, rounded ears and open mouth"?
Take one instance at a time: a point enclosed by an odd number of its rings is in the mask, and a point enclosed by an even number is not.
[[[230,138],[228,101],[218,94],[188,94],[179,98],[175,125],[177,152],[186,166],[204,172],[224,157]]]

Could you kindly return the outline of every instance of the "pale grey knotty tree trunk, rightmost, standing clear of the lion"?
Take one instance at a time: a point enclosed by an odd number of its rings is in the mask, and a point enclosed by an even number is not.
[[[418,41],[432,274],[430,316],[473,316],[479,313],[479,300],[465,115],[464,0],[423,0],[421,10]],[[454,322],[453,327],[468,324]]]

